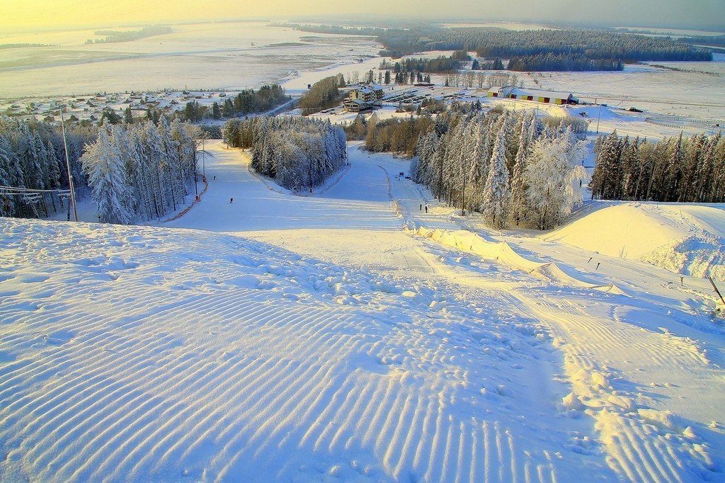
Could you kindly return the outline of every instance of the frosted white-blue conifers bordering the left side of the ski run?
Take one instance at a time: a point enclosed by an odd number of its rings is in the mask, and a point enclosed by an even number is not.
[[[104,123],[81,163],[99,221],[162,218],[196,194],[196,128],[162,117],[133,125]]]

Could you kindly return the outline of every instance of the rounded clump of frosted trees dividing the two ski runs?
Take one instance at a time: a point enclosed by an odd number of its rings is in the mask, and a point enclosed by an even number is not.
[[[224,125],[223,139],[231,147],[251,148],[252,169],[293,191],[311,191],[347,162],[344,131],[324,120],[231,119]]]

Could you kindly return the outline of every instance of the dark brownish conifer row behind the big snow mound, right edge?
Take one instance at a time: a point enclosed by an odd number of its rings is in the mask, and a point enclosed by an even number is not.
[[[725,139],[721,133],[654,142],[620,138],[616,131],[595,145],[592,199],[658,202],[725,202]]]

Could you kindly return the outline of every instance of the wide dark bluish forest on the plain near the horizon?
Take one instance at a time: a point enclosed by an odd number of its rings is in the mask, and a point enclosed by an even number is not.
[[[294,27],[306,32],[375,36],[385,47],[381,55],[394,58],[420,51],[476,51],[479,57],[513,59],[509,70],[618,70],[623,62],[710,61],[713,57],[711,51],[687,41],[607,30]]]

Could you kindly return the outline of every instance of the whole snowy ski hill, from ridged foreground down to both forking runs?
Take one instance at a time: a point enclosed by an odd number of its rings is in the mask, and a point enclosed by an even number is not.
[[[312,196],[212,144],[171,223],[0,219],[0,479],[725,479],[707,282],[587,217],[491,233],[349,149]]]

